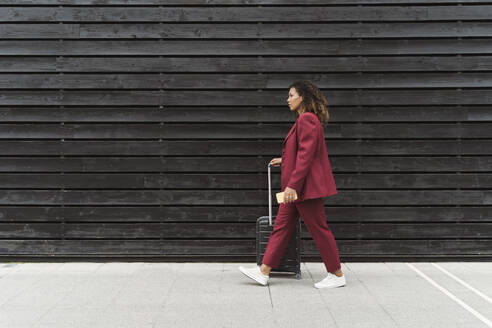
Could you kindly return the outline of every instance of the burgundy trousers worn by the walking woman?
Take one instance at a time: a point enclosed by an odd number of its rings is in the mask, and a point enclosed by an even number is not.
[[[341,268],[335,237],[326,224],[326,215],[322,198],[306,199],[293,203],[281,203],[273,224],[273,231],[263,256],[263,264],[277,268],[284,255],[301,216],[325,264],[328,272]]]

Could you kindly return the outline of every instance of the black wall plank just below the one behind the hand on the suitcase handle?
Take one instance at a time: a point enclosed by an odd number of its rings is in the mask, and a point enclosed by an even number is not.
[[[280,176],[272,176],[272,184],[279,186]],[[336,174],[337,188],[357,189],[492,189],[492,174],[462,173],[450,174]],[[38,188],[66,188],[66,189],[246,189],[265,188],[265,181],[259,179],[258,174],[222,174],[222,173],[155,173],[155,174],[50,174],[25,173],[1,174],[0,188],[9,189],[38,189]]]

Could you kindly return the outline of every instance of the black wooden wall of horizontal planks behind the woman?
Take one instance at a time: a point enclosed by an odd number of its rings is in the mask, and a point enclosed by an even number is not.
[[[453,0],[3,0],[0,255],[254,259],[296,79],[342,260],[492,256],[492,1]]]

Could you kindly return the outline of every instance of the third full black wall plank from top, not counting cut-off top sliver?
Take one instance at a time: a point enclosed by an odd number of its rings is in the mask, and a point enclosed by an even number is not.
[[[8,40],[3,56],[344,56],[344,55],[489,55],[487,38],[361,40]]]

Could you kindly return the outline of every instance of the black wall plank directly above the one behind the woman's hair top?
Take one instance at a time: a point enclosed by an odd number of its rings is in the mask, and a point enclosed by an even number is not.
[[[456,72],[491,71],[492,56],[28,57],[0,56],[0,72]]]

